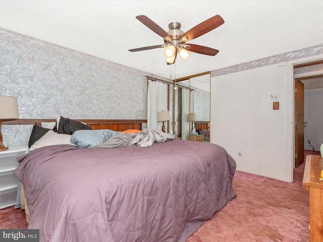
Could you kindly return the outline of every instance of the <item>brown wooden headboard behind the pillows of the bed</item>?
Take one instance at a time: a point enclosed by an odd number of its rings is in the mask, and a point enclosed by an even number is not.
[[[85,123],[92,130],[142,130],[142,124],[147,123],[146,119],[74,119]],[[42,122],[56,122],[56,119],[46,119]],[[34,125],[41,126],[41,122],[36,121]]]

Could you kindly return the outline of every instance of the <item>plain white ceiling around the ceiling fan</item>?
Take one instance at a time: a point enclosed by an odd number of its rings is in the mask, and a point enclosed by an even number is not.
[[[135,17],[185,32],[220,15],[225,23],[191,42],[219,49],[166,65],[163,38]],[[323,1],[0,1],[0,27],[172,79],[323,43]]]

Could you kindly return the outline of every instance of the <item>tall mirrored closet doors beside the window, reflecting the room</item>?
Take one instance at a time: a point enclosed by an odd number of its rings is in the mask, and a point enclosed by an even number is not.
[[[192,129],[195,129],[197,134],[203,135],[200,141],[209,142],[210,72],[181,78],[176,83],[179,84],[174,98],[174,109],[177,110],[173,120],[176,122],[176,136],[182,140],[196,140],[195,136],[190,137],[194,135],[191,134]],[[193,116],[197,120],[191,122],[190,113],[195,113]]]

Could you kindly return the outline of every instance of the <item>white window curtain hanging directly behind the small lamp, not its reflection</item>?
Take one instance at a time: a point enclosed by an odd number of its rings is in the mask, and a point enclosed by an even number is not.
[[[163,122],[157,122],[157,112],[168,110],[168,84],[148,79],[147,128],[161,130]],[[168,123],[165,122],[165,131]]]

